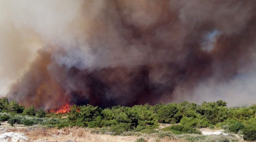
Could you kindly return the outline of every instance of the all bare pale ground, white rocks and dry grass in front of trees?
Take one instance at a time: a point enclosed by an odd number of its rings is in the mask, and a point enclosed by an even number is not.
[[[168,127],[170,124],[160,124],[160,128]],[[200,130],[203,135],[228,135],[223,130],[209,130],[203,128]],[[88,128],[72,127],[72,128],[43,128],[39,126],[26,127],[23,125],[15,125],[11,127],[7,122],[2,122],[0,126],[0,141],[137,141],[139,138],[146,141],[184,141],[182,139],[174,139],[164,137],[159,139],[154,135],[132,135],[132,136],[114,136],[107,134],[98,134]]]

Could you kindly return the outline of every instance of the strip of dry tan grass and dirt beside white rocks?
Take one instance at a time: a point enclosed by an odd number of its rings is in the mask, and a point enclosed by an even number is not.
[[[39,128],[36,126],[26,127],[15,125],[11,127],[7,122],[1,123],[0,135],[5,132],[20,132],[28,137],[28,141],[136,141],[143,137],[147,141],[159,141],[157,137],[152,136],[113,136],[105,134],[92,133],[90,130],[81,127],[73,128]],[[165,138],[160,141],[178,141]]]

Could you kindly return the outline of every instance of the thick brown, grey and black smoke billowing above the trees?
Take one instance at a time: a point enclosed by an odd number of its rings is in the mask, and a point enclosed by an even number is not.
[[[10,23],[42,45],[7,93],[25,106],[256,103],[256,1],[5,5]]]

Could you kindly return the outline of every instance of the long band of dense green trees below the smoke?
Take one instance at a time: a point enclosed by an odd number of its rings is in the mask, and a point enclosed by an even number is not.
[[[56,115],[46,113],[42,109],[36,111],[33,106],[24,108],[15,101],[8,102],[6,98],[2,98],[0,108],[2,112],[13,113],[9,118],[4,118],[6,114],[3,113],[0,116],[1,121],[8,120],[10,124],[25,122],[27,125],[42,124],[58,128],[108,128],[109,131],[120,134],[126,131],[153,133],[159,123],[170,123],[175,125],[162,131],[177,134],[200,133],[197,128],[217,127],[224,128],[226,132],[240,133],[245,140],[256,140],[256,105],[230,108],[226,107],[224,101],[203,102],[201,105],[183,102],[168,105],[160,103],[155,106],[114,106],[104,109],[90,105],[73,105],[68,114]],[[68,116],[60,119],[64,115]]]

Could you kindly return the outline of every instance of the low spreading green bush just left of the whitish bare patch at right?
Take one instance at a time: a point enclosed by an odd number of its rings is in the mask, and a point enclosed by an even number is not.
[[[180,125],[180,124],[169,126],[169,127],[163,128],[162,130],[163,131],[171,131],[172,133],[175,133],[175,134],[183,134],[183,133],[196,133],[196,134],[200,134],[201,133],[196,128],[187,127],[187,126],[183,126],[183,125]]]

